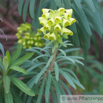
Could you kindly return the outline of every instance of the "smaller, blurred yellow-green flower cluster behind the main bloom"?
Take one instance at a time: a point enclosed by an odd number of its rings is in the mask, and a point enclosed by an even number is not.
[[[35,32],[31,30],[31,25],[29,23],[21,24],[17,30],[18,32],[16,36],[18,38],[18,43],[21,43],[24,49],[32,48],[33,46],[44,46],[44,43],[41,39],[41,33],[37,32],[37,34],[35,34]]]

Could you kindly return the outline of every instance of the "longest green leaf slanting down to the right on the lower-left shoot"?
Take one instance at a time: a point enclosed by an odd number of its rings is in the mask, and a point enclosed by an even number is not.
[[[21,80],[15,78],[15,77],[11,77],[11,81],[13,82],[13,84],[15,84],[24,93],[28,94],[29,96],[35,96],[34,92],[31,91],[27,87],[27,85],[25,83],[23,83]]]

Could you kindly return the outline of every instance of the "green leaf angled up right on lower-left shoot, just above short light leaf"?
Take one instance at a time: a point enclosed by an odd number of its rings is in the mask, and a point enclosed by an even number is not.
[[[25,61],[27,61],[28,59],[30,59],[32,56],[34,55],[34,53],[28,53],[27,55],[21,57],[20,59],[18,59],[13,65],[21,65],[22,63],[24,63]]]

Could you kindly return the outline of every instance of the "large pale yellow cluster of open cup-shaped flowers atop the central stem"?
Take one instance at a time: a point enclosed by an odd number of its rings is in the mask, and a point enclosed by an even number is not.
[[[42,17],[39,17],[39,21],[43,27],[39,31],[43,32],[44,39],[62,43],[62,38],[68,38],[68,35],[73,35],[73,32],[66,28],[76,22],[72,18],[72,9],[42,9],[42,12],[43,14]]]

